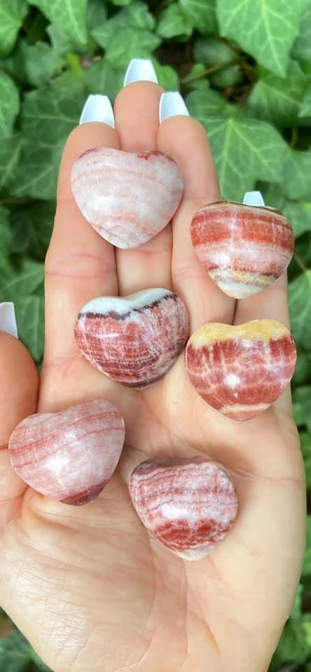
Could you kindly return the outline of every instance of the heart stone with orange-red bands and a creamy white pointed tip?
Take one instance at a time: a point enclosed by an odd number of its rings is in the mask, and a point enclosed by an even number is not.
[[[209,276],[235,299],[260,292],[282,275],[294,248],[293,230],[281,212],[230,202],[195,213],[191,240]]]

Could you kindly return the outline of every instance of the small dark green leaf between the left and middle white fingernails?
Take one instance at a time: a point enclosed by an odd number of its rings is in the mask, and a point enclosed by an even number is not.
[[[114,68],[105,57],[85,70],[85,84],[90,93],[102,93],[114,100],[123,87],[124,70]]]

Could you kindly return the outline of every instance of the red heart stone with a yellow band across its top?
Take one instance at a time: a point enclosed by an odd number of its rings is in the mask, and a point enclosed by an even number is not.
[[[295,365],[293,338],[273,320],[205,324],[186,346],[186,370],[196,391],[235,420],[253,418],[275,402]]]

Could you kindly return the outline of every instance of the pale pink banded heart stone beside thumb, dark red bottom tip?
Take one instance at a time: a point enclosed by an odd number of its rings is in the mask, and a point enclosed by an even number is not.
[[[36,491],[65,504],[87,504],[111,479],[124,437],[116,406],[90,399],[22,420],[11,435],[8,454],[18,475]]]

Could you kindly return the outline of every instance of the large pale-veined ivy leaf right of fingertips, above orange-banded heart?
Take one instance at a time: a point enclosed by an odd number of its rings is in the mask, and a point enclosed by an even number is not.
[[[207,130],[223,198],[240,201],[256,180],[282,179],[287,147],[272,126],[232,116],[223,97],[207,87],[191,92],[187,104]]]

